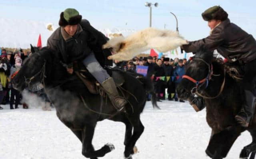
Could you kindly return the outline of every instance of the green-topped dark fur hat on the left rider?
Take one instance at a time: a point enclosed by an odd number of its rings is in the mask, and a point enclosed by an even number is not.
[[[79,15],[79,12],[73,8],[67,8],[64,12],[60,13],[60,26],[67,26],[67,25],[76,25],[79,24],[82,20],[82,16]]]

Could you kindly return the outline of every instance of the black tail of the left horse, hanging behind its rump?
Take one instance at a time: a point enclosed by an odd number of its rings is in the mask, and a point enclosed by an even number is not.
[[[154,93],[154,85],[151,81],[150,78],[145,78],[145,77],[141,77],[138,78],[140,80],[140,82],[142,82],[144,89],[147,91],[147,94],[150,93],[151,94],[151,103],[153,105],[153,108],[157,108],[160,109],[160,107],[158,107],[156,101],[157,101],[157,97],[156,97],[156,93]]]

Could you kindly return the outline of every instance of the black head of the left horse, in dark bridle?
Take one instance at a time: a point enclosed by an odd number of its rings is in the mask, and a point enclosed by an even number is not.
[[[26,58],[20,70],[12,76],[13,87],[22,91],[26,87],[30,88],[35,83],[42,82],[50,52],[48,48],[42,48]]]

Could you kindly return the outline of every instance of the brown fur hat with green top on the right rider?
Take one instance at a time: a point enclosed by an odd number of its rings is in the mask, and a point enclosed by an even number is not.
[[[205,21],[209,21],[212,19],[223,21],[228,18],[228,13],[225,10],[223,10],[220,6],[213,6],[202,13],[202,18]]]

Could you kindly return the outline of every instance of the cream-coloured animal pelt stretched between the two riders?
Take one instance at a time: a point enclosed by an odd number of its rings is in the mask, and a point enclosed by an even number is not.
[[[122,36],[112,38],[102,47],[112,48],[114,55],[108,56],[109,60],[124,61],[131,60],[134,56],[151,48],[159,52],[167,52],[183,44],[188,42],[178,32],[147,28],[127,38]]]

